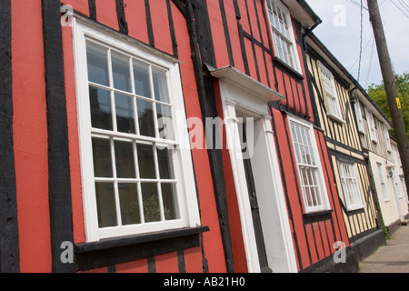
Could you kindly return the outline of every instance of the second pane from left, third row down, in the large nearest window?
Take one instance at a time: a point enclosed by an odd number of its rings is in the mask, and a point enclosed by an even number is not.
[[[135,178],[135,160],[132,143],[115,141],[116,176]]]

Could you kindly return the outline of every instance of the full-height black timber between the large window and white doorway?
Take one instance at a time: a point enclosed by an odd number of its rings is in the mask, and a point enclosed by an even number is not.
[[[186,24],[190,37],[197,94],[199,96],[203,121],[205,122],[205,117],[217,116],[217,109],[215,106],[214,78],[209,72],[204,71],[204,67],[205,64],[215,67],[216,62],[207,5],[202,0],[195,0],[193,2],[194,4],[191,1],[186,1]],[[217,135],[217,126],[214,126],[214,129],[213,134]],[[226,270],[228,273],[233,273],[234,260],[225,192],[222,151],[211,146],[207,153],[214,184],[214,198],[224,246]],[[206,266],[205,257],[204,265]]]

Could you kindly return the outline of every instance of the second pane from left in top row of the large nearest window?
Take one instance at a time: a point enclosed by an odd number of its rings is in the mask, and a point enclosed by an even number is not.
[[[112,52],[112,73],[116,89],[132,92],[129,57]]]

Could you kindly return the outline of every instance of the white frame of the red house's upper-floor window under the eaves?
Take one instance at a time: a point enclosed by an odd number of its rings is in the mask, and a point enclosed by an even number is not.
[[[294,28],[293,28],[293,22],[292,22],[292,18],[290,15],[290,11],[279,0],[266,0],[265,3],[266,3],[265,8],[268,14],[270,28],[271,28],[275,56],[278,57],[280,60],[282,60],[284,64],[289,65],[295,71],[302,74],[300,58],[298,56],[298,50],[296,47],[296,42],[295,42],[295,37],[294,37]],[[276,10],[277,13],[281,12],[284,15],[285,20],[286,20],[286,25],[280,22],[279,19],[277,20],[277,18],[275,18],[274,20],[274,13],[272,9],[270,9],[270,7],[272,7],[273,5],[275,5],[277,9]],[[280,10],[280,12],[278,12],[278,9]],[[276,27],[276,24],[275,24],[276,21],[279,22],[278,25],[280,27]],[[280,47],[283,47],[283,43],[285,44],[285,48],[287,52],[284,52],[284,50],[280,49]],[[282,51],[281,55],[280,55],[280,51]],[[289,57],[291,57],[292,61],[285,60],[284,53],[287,53]]]

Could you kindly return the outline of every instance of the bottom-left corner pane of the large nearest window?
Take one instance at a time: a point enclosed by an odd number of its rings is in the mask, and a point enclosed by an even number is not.
[[[114,183],[95,183],[98,226],[117,226]]]

